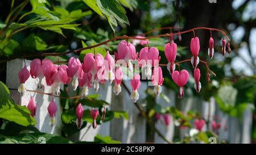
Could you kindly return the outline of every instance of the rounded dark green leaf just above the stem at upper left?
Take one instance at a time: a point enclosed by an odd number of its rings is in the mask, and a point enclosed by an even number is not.
[[[34,33],[26,37],[22,43],[22,47],[27,51],[44,51],[47,46],[46,42]]]

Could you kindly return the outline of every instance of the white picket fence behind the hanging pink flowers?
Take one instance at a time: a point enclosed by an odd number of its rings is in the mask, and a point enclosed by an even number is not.
[[[30,69],[30,61],[26,60],[28,69]],[[7,62],[7,78],[6,85],[11,89],[17,89],[19,86],[18,72],[24,66],[24,61],[22,59],[16,59]],[[130,81],[124,81],[127,86],[130,85]],[[36,85],[38,83],[37,79],[32,79],[31,77],[26,82],[26,88],[29,90],[38,90]],[[47,86],[43,80],[44,89],[38,91],[44,91],[46,93],[51,90],[50,86]],[[130,88],[131,89],[131,88]],[[140,99],[138,103],[140,106],[145,106],[143,99],[146,97],[144,91],[147,89],[147,82],[142,82],[141,89],[139,90]],[[23,97],[20,97],[18,91],[10,90],[16,103],[20,105],[27,105],[28,100],[31,95],[35,98],[38,110],[36,111],[36,128],[41,132],[55,133],[60,135],[61,133],[61,107],[59,104],[59,98],[54,98],[58,111],[55,119],[55,126],[52,128],[49,124],[49,116],[47,112],[47,106],[51,100],[48,95],[28,93]],[[69,92],[69,95],[74,95],[74,92]],[[91,89],[90,94],[96,94],[96,92]],[[171,103],[167,103],[166,100],[158,98],[158,103],[162,106],[175,106],[176,94],[172,90],[168,90],[163,87],[163,93],[170,98]],[[98,92],[100,94],[99,99],[106,100],[110,103],[109,108],[111,110],[127,111],[129,114],[129,120],[123,118],[113,119],[110,122],[98,125],[96,129],[90,127],[88,123],[85,128],[81,129],[80,132],[75,133],[71,137],[73,141],[93,141],[96,134],[101,136],[110,136],[114,140],[119,140],[122,143],[146,143],[146,120],[139,115],[139,111],[131,102],[129,94],[122,90],[122,92],[116,96],[112,93],[112,86],[107,84],[104,87],[100,87]],[[252,124],[252,112],[250,107],[248,107],[242,118],[232,118],[220,111],[214,98],[210,99],[210,102],[205,102],[199,98],[184,98],[181,100],[181,110],[186,112],[188,110],[199,110],[206,120],[210,118],[210,124],[212,122],[212,116],[217,115],[221,119],[221,129],[219,133],[220,140],[228,140],[230,143],[250,143],[251,141],[251,124]],[[210,106],[210,107],[209,107]],[[88,108],[84,106],[84,108]],[[208,117],[210,116],[210,117]],[[225,125],[228,125],[228,130],[225,131]],[[90,128],[89,128],[90,127]],[[166,139],[173,141],[175,125],[174,120],[171,119],[170,125],[166,127],[162,121],[156,123],[156,128],[166,137]],[[204,128],[206,130],[207,127]],[[188,129],[180,129],[180,137],[184,137],[185,134],[189,134]],[[161,137],[155,133],[155,143],[166,143]]]

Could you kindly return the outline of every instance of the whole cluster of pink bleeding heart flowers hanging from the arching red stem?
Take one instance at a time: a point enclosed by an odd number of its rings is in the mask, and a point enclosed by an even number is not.
[[[143,36],[137,36],[139,39],[143,39]],[[68,65],[55,65],[50,60],[46,58],[40,60],[36,58],[31,61],[30,70],[27,69],[25,65],[22,70],[20,70],[18,76],[20,80],[20,86],[18,91],[21,95],[24,95],[26,88],[24,83],[31,76],[32,78],[38,78],[38,89],[42,89],[42,79],[45,78],[48,86],[52,86],[51,93],[55,95],[60,95],[60,86],[72,84],[73,90],[77,87],[81,87],[81,97],[86,97],[88,95],[89,89],[93,86],[94,90],[97,92],[100,83],[105,83],[109,81],[112,83],[114,81],[113,92],[118,95],[122,88],[121,83],[123,79],[122,67],[129,68],[130,72],[134,72],[134,62],[138,62],[138,67],[142,68],[142,77],[146,79],[151,79],[152,85],[154,86],[154,91],[156,95],[160,95],[162,92],[163,85],[163,74],[162,68],[159,65],[160,56],[159,51],[156,47],[144,47],[138,53],[136,52],[135,45],[148,45],[148,40],[136,40],[134,39],[132,43],[122,40],[117,47],[117,52],[114,52],[114,58],[107,51],[106,56],[103,57],[101,54],[87,53],[84,56],[84,60],[81,63],[79,58],[71,57],[68,61]],[[226,40],[222,40],[222,54],[225,54],[226,46],[228,47],[228,53],[231,49],[229,43],[226,44]],[[209,49],[208,55],[210,58],[214,55],[214,40],[212,37],[209,39]],[[190,49],[192,57],[189,61],[194,68],[193,77],[195,79],[195,89],[197,92],[201,89],[200,83],[200,69],[197,65],[200,62],[199,51],[200,51],[200,41],[198,37],[193,37],[190,43]],[[177,44],[174,43],[173,37],[170,36],[170,43],[167,43],[164,47],[164,53],[168,60],[167,69],[171,74],[173,81],[179,86],[178,96],[182,98],[184,96],[184,86],[188,82],[189,73],[187,70],[180,70],[179,62],[176,62],[177,55]],[[185,62],[185,61],[184,61]],[[176,66],[179,66],[179,70],[175,70]],[[151,68],[154,68],[151,70]],[[208,81],[209,73],[207,74]],[[141,76],[139,73],[133,75],[130,81],[132,92],[130,97],[133,102],[137,102],[139,99],[139,88],[141,86]],[[31,115],[35,115],[36,104],[33,99],[30,100],[28,108],[31,110]],[[78,106],[77,112],[77,125],[81,127],[81,104]],[[54,118],[56,114],[57,107],[53,100],[49,103],[48,112],[51,118]],[[93,120],[98,116],[98,111],[91,111]],[[51,121],[53,122],[53,120]],[[93,127],[96,128],[96,123],[93,122]]]

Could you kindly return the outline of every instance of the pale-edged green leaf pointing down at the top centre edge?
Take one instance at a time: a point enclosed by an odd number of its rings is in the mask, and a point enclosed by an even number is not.
[[[117,0],[97,0],[97,5],[105,15],[113,16],[119,22],[129,25],[126,11]]]

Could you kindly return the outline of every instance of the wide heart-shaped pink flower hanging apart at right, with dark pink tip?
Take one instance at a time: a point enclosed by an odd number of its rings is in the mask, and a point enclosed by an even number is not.
[[[172,80],[174,80],[176,85],[180,87],[178,94],[180,98],[184,96],[183,86],[185,86],[186,83],[188,82],[188,78],[189,74],[188,71],[185,69],[181,70],[180,72],[175,70],[174,73],[172,73]]]

